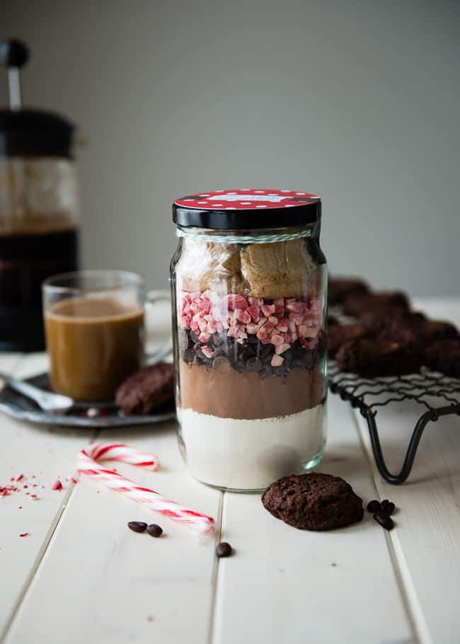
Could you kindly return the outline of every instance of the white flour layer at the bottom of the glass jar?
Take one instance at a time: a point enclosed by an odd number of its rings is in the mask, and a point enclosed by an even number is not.
[[[188,467],[202,483],[260,490],[281,476],[299,473],[321,456],[326,408],[260,420],[218,418],[178,409]]]

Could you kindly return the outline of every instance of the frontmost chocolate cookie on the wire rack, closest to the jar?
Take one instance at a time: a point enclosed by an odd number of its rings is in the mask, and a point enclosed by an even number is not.
[[[364,378],[413,374],[422,363],[416,347],[379,338],[352,340],[340,348],[335,360],[340,371]]]

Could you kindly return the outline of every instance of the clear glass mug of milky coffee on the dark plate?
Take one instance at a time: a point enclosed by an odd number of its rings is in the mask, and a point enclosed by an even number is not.
[[[42,291],[52,389],[76,401],[113,400],[144,362],[146,306],[168,295],[145,294],[142,277],[122,270],[55,275]]]

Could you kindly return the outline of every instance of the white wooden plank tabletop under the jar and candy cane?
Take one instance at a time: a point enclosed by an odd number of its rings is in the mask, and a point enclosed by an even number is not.
[[[460,301],[419,304],[460,325]],[[42,355],[0,356],[0,370],[17,376],[45,364]],[[379,418],[395,470],[417,415],[406,403]],[[79,449],[98,437],[158,453],[161,471],[117,468],[212,514],[215,538],[197,539],[83,477],[77,485],[66,481]],[[23,474],[17,485],[28,488],[0,497],[0,642],[457,644],[460,418],[428,425],[409,481],[396,487],[376,470],[362,418],[330,396],[320,469],[350,481],[365,502],[394,500],[396,528],[385,532],[366,513],[338,531],[292,529],[268,514],[258,495],[194,481],[173,422],[98,434],[1,416],[0,485]],[[61,491],[51,489],[57,476]],[[165,534],[136,535],[126,527],[130,520],[159,521]],[[221,539],[234,546],[229,559],[214,556]]]

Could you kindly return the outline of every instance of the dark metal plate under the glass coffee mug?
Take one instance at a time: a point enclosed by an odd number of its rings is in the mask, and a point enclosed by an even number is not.
[[[40,374],[28,378],[30,382],[40,389],[50,390],[48,374]],[[96,411],[98,415],[86,415],[88,408]],[[163,422],[176,417],[176,410],[171,407],[159,409],[156,413],[125,416],[113,403],[76,403],[65,414],[51,414],[41,410],[29,398],[17,393],[8,386],[0,391],[0,411],[17,420],[27,420],[35,425],[60,425],[62,427],[129,427],[130,425],[150,425],[154,422]]]

